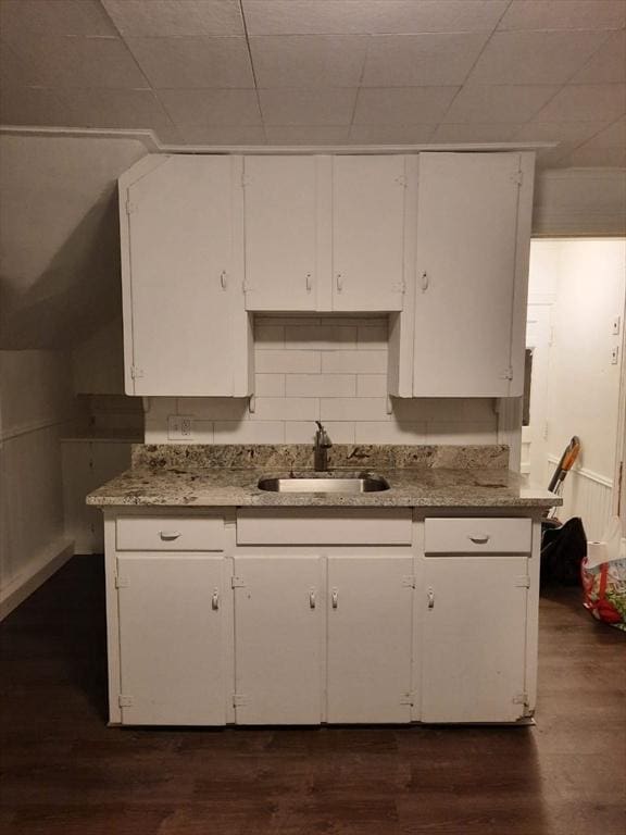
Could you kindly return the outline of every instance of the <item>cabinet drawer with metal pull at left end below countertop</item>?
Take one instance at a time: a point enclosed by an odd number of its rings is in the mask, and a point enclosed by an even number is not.
[[[224,520],[220,516],[134,516],[118,519],[118,551],[223,551]]]

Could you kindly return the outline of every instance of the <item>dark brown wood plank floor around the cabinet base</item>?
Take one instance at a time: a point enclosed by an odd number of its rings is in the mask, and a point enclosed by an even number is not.
[[[541,601],[535,727],[110,728],[100,558],[0,636],[2,833],[626,832],[626,636],[577,589]]]

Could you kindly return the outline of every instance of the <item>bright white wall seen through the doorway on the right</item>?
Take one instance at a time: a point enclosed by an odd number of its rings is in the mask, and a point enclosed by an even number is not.
[[[591,538],[602,535],[611,512],[619,409],[626,240],[534,241],[530,300],[553,296],[552,344],[546,403],[546,471],[554,470],[567,441],[578,435],[581,453],[565,481],[563,518],[581,515]]]

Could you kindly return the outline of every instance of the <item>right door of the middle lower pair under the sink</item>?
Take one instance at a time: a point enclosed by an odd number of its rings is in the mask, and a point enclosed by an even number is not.
[[[412,566],[328,558],[328,722],[411,721]]]

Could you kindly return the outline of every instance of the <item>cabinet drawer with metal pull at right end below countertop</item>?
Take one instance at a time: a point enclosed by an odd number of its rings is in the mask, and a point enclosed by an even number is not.
[[[427,519],[426,553],[529,553],[529,519]]]

